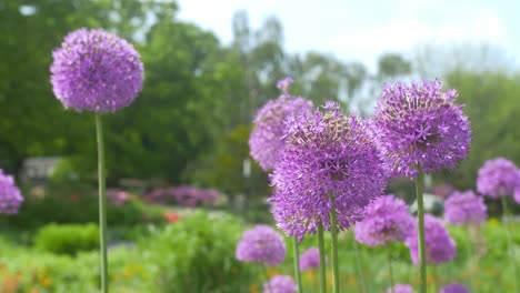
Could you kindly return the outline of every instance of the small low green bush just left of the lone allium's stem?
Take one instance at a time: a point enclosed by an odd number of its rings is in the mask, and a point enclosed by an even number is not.
[[[96,224],[48,224],[41,228],[36,238],[37,249],[76,255],[80,251],[99,247],[99,229]]]

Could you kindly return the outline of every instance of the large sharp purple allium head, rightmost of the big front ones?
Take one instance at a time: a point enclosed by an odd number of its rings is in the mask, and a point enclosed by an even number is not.
[[[441,92],[441,82],[388,84],[378,101],[374,122],[379,148],[394,175],[417,176],[454,168],[464,159],[471,129],[456,90]]]

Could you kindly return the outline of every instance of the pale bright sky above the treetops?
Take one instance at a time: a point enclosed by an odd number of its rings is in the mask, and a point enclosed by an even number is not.
[[[179,18],[232,38],[231,19],[248,11],[257,29],[269,16],[283,23],[290,52],[316,50],[373,68],[386,51],[410,54],[418,44],[490,43],[520,60],[517,0],[178,0]]]

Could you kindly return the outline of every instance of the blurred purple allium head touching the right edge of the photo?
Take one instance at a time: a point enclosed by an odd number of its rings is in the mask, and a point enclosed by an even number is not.
[[[504,158],[488,160],[479,170],[477,191],[491,199],[520,196],[520,172],[513,162]]]

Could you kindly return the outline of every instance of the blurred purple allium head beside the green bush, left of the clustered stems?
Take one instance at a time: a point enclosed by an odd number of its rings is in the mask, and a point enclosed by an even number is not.
[[[236,255],[241,262],[277,265],[286,257],[286,243],[272,228],[257,225],[243,233],[237,245]]]

